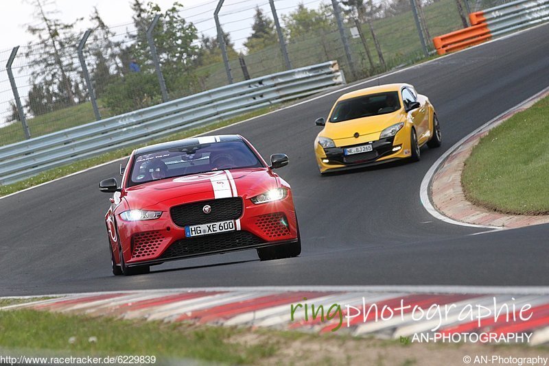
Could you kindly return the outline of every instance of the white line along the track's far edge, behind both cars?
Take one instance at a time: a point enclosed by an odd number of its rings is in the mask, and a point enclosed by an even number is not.
[[[332,91],[330,91],[330,92],[328,92],[328,93],[322,93],[322,94],[320,94],[320,95],[318,95],[318,96],[316,96],[316,97],[312,97],[311,99],[307,99],[307,100],[301,101],[301,102],[299,102],[299,103],[292,104],[291,106],[287,106],[287,107],[284,107],[284,108],[280,108],[280,109],[278,109],[278,110],[273,110],[273,111],[271,111],[271,112],[267,112],[266,114],[261,114],[261,116],[251,117],[251,118],[249,118],[249,119],[245,119],[244,121],[240,121],[240,122],[237,122],[237,123],[233,123],[233,124],[231,124],[231,125],[227,125],[227,126],[224,126],[224,127],[219,127],[219,128],[216,128],[215,130],[210,130],[210,131],[204,132],[204,133],[202,133],[202,134],[198,134],[198,135],[196,135],[196,136],[194,136],[194,137],[203,136],[203,135],[205,135],[205,134],[212,134],[213,132],[217,132],[217,131],[223,130],[224,128],[227,128],[227,127],[233,127],[233,126],[235,126],[235,125],[240,125],[241,123],[246,123],[246,122],[249,122],[249,121],[253,121],[254,119],[258,119],[258,118],[261,118],[261,117],[265,117],[265,116],[268,116],[268,115],[273,114],[273,113],[281,112],[281,111],[286,110],[286,109],[288,109],[288,108],[294,108],[294,107],[296,107],[296,106],[301,106],[301,105],[303,105],[303,104],[305,104],[305,103],[309,103],[309,102],[311,102],[311,101],[315,101],[315,100],[317,100],[317,99],[320,99],[320,98],[323,98],[323,97],[327,97],[328,95],[332,95],[332,94],[336,94],[336,93],[341,93],[341,92],[344,91],[344,90],[348,90],[348,89],[351,89],[351,88],[355,88],[355,87],[357,87],[357,86],[361,86],[361,85],[367,84],[367,83],[369,83],[369,82],[375,82],[376,80],[380,80],[380,79],[382,79],[383,77],[388,77],[388,76],[390,76],[390,75],[395,75],[395,74],[397,74],[397,73],[401,73],[402,71],[406,71],[406,70],[410,70],[410,69],[414,69],[414,68],[423,67],[423,65],[430,64],[431,62],[435,62],[435,61],[438,62],[438,61],[440,61],[440,60],[443,60],[444,58],[452,58],[452,57],[455,56],[455,55],[458,55],[458,54],[460,54],[460,53],[464,53],[464,52],[470,51],[471,49],[476,49],[477,47],[483,47],[483,46],[485,46],[485,45],[489,45],[490,43],[498,42],[498,41],[504,40],[504,39],[506,39],[506,38],[512,38],[512,37],[514,37],[514,36],[517,36],[517,35],[522,34],[522,33],[524,33],[524,32],[528,32],[528,31],[530,31],[530,30],[532,30],[532,29],[536,29],[537,27],[542,27],[542,26],[544,26],[544,25],[546,25],[546,24],[540,24],[540,25],[536,25],[535,27],[530,27],[530,28],[528,28],[528,29],[522,29],[522,30],[519,31],[519,32],[515,32],[515,33],[512,33],[512,34],[509,34],[508,36],[503,36],[503,37],[500,37],[500,38],[495,38],[495,39],[493,39],[493,40],[489,40],[488,42],[480,43],[480,45],[475,45],[475,46],[473,46],[473,47],[469,47],[469,48],[467,48],[467,49],[462,49],[462,50],[456,51],[456,52],[454,52],[454,53],[448,53],[448,54],[446,54],[446,55],[444,55],[444,56],[441,56],[441,57],[439,57],[439,58],[434,58],[434,59],[432,59],[432,60],[428,60],[428,61],[425,61],[425,62],[421,62],[421,63],[419,63],[419,64],[414,64],[414,65],[406,66],[406,67],[404,67],[403,69],[398,69],[398,70],[395,70],[395,71],[391,71],[391,72],[389,72],[389,73],[384,73],[384,74],[382,74],[382,75],[377,75],[377,76],[375,76],[375,77],[371,77],[371,78],[369,78],[369,79],[363,80],[362,82],[354,82],[354,83],[351,83],[351,84],[349,84],[349,85],[347,85],[347,86],[344,86],[343,88],[337,88],[336,90],[332,90]],[[189,137],[191,137],[191,136],[189,136]],[[52,182],[56,182],[56,181],[58,181],[58,180],[62,180],[62,179],[65,179],[65,178],[69,178],[69,177],[72,177],[73,175],[77,175],[77,174],[80,174],[80,173],[84,173],[84,172],[86,172],[86,171],[90,171],[91,169],[103,167],[104,165],[112,164],[113,162],[118,162],[118,161],[124,160],[124,159],[126,159],[126,158],[128,158],[128,157],[126,156],[126,157],[124,157],[124,158],[119,158],[119,159],[111,160],[110,162],[104,162],[104,163],[102,163],[102,164],[95,165],[95,167],[89,167],[89,168],[86,168],[86,169],[81,170],[81,171],[76,171],[75,173],[71,173],[71,174],[69,174],[69,175],[65,175],[65,176],[63,176],[63,177],[56,178],[56,179],[54,179],[54,180],[50,180],[49,182],[40,183],[40,184],[37,184],[36,186],[32,186],[32,187],[29,187],[29,188],[25,188],[25,189],[23,189],[23,190],[21,190],[21,191],[17,191],[17,192],[14,192],[14,193],[10,193],[9,195],[5,195],[5,196],[0,197],[0,199],[7,198],[7,197],[10,197],[10,196],[12,196],[12,195],[16,195],[16,194],[18,194],[18,193],[23,193],[23,192],[25,192],[25,191],[29,191],[29,190],[34,189],[34,188],[38,188],[39,186],[44,186],[45,184],[49,184],[49,183],[52,183]]]

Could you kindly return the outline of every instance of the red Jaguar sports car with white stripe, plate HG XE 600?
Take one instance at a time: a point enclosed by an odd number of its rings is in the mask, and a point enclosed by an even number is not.
[[[299,256],[290,185],[242,136],[205,136],[132,152],[105,215],[115,275],[148,273],[167,260],[257,249],[261,260]]]

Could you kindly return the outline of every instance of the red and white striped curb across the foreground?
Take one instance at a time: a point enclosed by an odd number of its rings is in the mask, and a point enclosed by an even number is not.
[[[464,332],[496,338],[517,334],[521,336],[517,337],[518,343],[549,344],[547,287],[274,286],[56,296],[0,310],[27,308],[119,319],[373,335],[383,339]],[[320,316],[320,305],[324,317]]]

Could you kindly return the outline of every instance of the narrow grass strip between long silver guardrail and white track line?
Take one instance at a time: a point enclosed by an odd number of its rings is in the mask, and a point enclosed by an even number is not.
[[[280,106],[279,106],[280,108]],[[38,175],[34,175],[34,177],[21,180],[20,182],[16,182],[13,184],[6,184],[6,185],[0,185],[0,197],[4,195],[9,195],[10,193],[14,193],[17,191],[21,191],[25,188],[30,188],[32,186],[36,186],[38,184],[49,182],[51,180],[54,180],[56,178],[64,177],[65,175],[69,175],[71,173],[75,173],[77,171],[81,171],[82,169],[86,169],[89,167],[95,167],[98,164],[102,164],[104,162],[109,162],[111,160],[116,160],[119,158],[124,158],[131,154],[133,149],[136,149],[137,147],[141,147],[144,145],[152,145],[155,143],[162,143],[165,141],[174,141],[178,140],[180,138],[187,138],[190,136],[196,136],[198,134],[202,134],[211,130],[215,130],[216,128],[224,127],[226,125],[231,125],[233,123],[237,123],[240,121],[244,121],[246,119],[250,119],[252,117],[260,116],[261,114],[265,114],[267,112],[270,112],[271,110],[274,110],[274,107],[267,107],[267,108],[261,108],[259,110],[256,110],[255,112],[249,112],[246,114],[242,114],[238,117],[234,117],[231,119],[226,119],[224,121],[220,121],[217,123],[211,123],[206,126],[197,127],[192,130],[185,130],[183,132],[178,132],[176,134],[172,134],[170,136],[166,136],[164,138],[150,141],[148,144],[142,144],[142,145],[135,145],[131,147],[125,147],[124,149],[118,149],[115,151],[110,151],[106,154],[102,154],[100,156],[95,156],[93,158],[80,160],[77,162],[73,162],[72,164],[68,164],[62,167],[58,167],[55,169],[49,169],[48,171],[44,171],[43,173],[40,173]],[[99,183],[99,182],[97,182]]]

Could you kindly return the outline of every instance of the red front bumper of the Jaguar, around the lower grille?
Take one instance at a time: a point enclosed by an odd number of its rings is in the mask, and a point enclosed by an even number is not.
[[[231,232],[188,238],[185,228],[174,222],[170,210],[163,212],[159,219],[149,221],[124,221],[117,217],[117,224],[128,266],[154,265],[167,260],[291,243],[298,239],[290,190],[287,197],[277,202],[253,204],[250,199],[244,199],[242,215],[235,219],[237,230]]]

